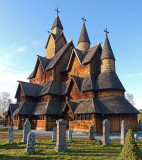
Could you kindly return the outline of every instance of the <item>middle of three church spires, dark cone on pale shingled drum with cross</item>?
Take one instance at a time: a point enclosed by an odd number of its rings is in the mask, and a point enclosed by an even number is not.
[[[86,20],[84,17],[82,19],[83,19],[83,26],[78,40],[78,49],[81,51],[87,51],[90,48],[90,40],[85,26]]]

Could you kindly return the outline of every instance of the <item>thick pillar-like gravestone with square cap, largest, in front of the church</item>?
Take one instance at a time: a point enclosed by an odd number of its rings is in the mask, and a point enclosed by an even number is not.
[[[63,119],[59,119],[56,121],[57,124],[57,139],[56,139],[56,152],[64,152],[67,151],[67,144],[66,144],[66,124],[67,121]]]

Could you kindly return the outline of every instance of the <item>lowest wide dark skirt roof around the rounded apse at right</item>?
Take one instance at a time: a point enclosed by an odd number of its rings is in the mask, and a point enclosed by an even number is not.
[[[97,99],[102,114],[139,114],[139,111],[124,97]]]

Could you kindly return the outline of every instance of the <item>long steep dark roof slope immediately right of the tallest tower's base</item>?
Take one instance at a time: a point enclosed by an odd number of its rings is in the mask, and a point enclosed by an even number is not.
[[[55,64],[60,60],[60,58],[64,55],[66,50],[68,49],[69,46],[73,46],[72,41],[66,43],[56,54],[55,56],[51,59],[50,63],[47,65],[46,70],[52,69]]]

